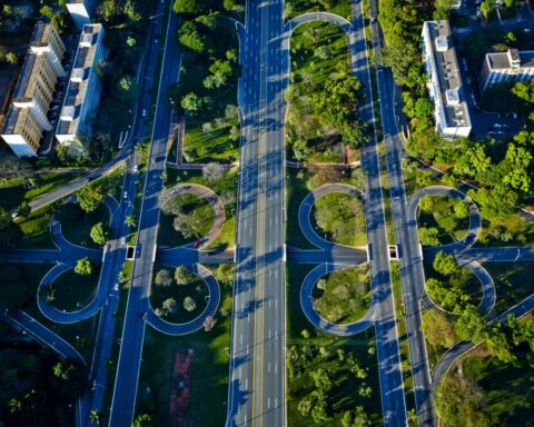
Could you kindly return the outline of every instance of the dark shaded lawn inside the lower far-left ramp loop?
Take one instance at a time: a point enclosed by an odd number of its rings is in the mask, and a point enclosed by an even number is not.
[[[87,306],[95,297],[100,279],[101,266],[95,268],[90,276],[80,276],[75,270],[68,270],[52,284],[55,299],[51,305],[58,310],[76,311]]]

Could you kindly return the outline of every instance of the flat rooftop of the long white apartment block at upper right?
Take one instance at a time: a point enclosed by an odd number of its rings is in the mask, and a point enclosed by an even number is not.
[[[456,48],[451,39],[451,26],[448,21],[427,21],[425,26],[432,40],[432,56],[437,75],[435,78],[439,87],[446,123],[448,127],[471,127],[467,103],[462,93],[463,83]]]

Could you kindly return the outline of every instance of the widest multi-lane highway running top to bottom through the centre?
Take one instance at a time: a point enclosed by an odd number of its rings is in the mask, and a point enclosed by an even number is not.
[[[228,427],[286,425],[283,23],[247,1]]]

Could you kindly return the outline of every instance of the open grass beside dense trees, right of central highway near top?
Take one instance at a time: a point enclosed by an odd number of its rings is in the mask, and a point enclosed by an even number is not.
[[[343,162],[344,146],[335,132],[325,136],[319,118],[310,108],[310,97],[322,88],[332,73],[348,63],[347,39],[335,24],[310,22],[298,27],[291,34],[291,85],[287,91],[288,115],[286,123],[289,155],[308,162]],[[323,51],[324,50],[324,51]],[[294,143],[305,141],[306,155],[296,156]],[[350,160],[357,160],[353,150]]]

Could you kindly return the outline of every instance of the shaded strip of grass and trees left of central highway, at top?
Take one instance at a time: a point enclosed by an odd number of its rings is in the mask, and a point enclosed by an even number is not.
[[[175,3],[175,12],[185,19],[177,36],[184,59],[179,82],[169,96],[185,117],[186,162],[230,163],[238,157],[239,46],[234,22],[220,12],[235,9],[229,3],[224,2],[224,8],[215,2]]]

